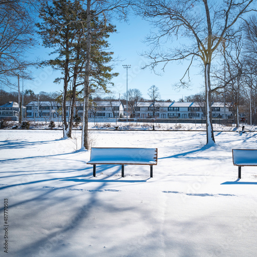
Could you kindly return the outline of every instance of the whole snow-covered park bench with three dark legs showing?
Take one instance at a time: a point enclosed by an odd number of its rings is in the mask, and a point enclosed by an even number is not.
[[[93,176],[96,176],[97,164],[121,165],[124,177],[124,165],[149,165],[150,177],[153,177],[153,165],[157,165],[157,148],[91,148],[90,160]]]

